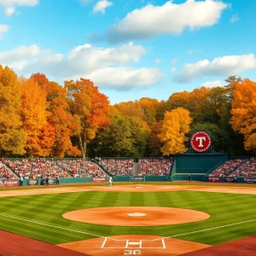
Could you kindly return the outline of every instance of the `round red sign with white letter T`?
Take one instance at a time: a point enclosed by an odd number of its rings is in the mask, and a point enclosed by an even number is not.
[[[212,140],[207,131],[196,131],[190,138],[190,145],[196,152],[205,152],[211,147]]]

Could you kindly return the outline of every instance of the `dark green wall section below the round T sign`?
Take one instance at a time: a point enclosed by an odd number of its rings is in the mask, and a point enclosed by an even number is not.
[[[172,167],[172,181],[192,180],[205,181],[207,172],[229,160],[228,154],[175,154]]]

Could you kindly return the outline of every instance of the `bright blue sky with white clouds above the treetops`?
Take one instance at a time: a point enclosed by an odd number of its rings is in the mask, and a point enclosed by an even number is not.
[[[255,0],[0,0],[0,65],[111,104],[256,80]]]

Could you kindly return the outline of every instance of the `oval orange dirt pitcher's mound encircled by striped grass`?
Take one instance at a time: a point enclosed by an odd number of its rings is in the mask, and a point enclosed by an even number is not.
[[[100,207],[62,215],[74,221],[116,226],[184,224],[210,218],[206,212],[172,207]]]

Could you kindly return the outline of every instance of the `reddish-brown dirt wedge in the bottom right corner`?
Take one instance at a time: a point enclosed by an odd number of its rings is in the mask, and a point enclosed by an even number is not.
[[[256,236],[241,238],[236,241],[229,241],[215,247],[209,247],[193,253],[185,253],[184,256],[253,256],[256,255]]]

